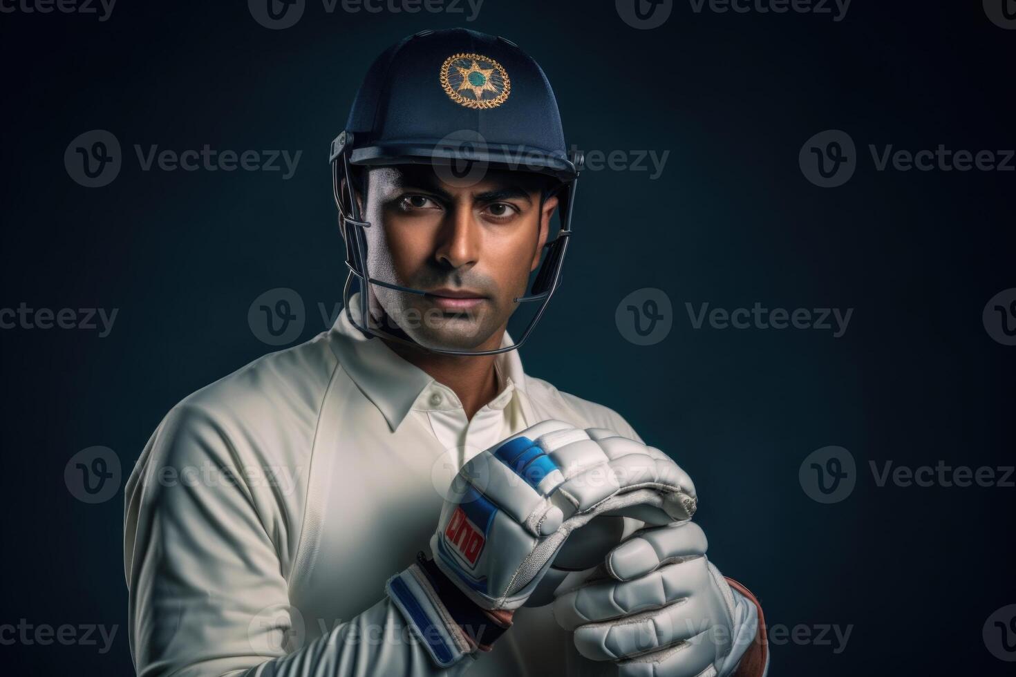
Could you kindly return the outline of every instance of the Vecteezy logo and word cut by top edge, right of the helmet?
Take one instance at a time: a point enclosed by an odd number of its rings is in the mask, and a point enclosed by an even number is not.
[[[851,0],[688,0],[695,14],[815,14],[831,16],[836,23],[846,18]],[[674,0],[615,0],[618,16],[633,28],[648,30],[666,22]]]

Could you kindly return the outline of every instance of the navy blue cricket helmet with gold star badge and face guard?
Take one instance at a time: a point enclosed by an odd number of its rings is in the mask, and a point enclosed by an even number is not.
[[[357,166],[426,163],[451,178],[480,177],[488,167],[533,172],[553,179],[561,226],[545,245],[543,263],[516,302],[539,303],[514,343],[496,350],[427,347],[446,354],[512,350],[529,336],[561,278],[581,153],[569,153],[557,99],[547,76],[514,43],[464,28],[423,30],[387,49],[371,66],[345,129],[331,142],[335,203],[346,245],[343,301],[362,332],[418,345],[368,321],[369,286],[425,291],[372,277],[364,228],[351,181]],[[350,313],[353,282],[363,322]]]

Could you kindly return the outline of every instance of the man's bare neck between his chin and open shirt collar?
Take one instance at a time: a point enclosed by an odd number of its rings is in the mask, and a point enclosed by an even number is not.
[[[444,355],[396,341],[385,340],[385,344],[402,359],[450,388],[462,403],[466,420],[472,420],[473,414],[497,397],[498,380],[494,370],[497,355]]]

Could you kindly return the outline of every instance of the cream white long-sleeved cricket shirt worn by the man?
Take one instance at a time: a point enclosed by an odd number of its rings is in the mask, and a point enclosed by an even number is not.
[[[356,296],[351,303],[358,309]],[[506,336],[505,341],[511,339]],[[507,345],[505,343],[504,345]],[[184,399],[127,483],[124,568],[140,675],[588,675],[551,607],[443,671],[384,594],[437,526],[461,465],[542,420],[639,439],[608,407],[496,358],[467,421],[449,388],[344,312]]]

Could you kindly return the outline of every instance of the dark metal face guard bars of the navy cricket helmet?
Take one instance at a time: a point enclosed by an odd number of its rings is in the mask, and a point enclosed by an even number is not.
[[[352,138],[352,134],[347,136]],[[343,135],[340,136],[339,139],[344,141],[346,133],[343,132]],[[572,179],[567,183],[563,183],[560,188],[550,193],[554,194],[556,192],[560,192],[564,195],[564,199],[561,201],[560,206],[562,226],[553,242],[544,244],[544,248],[547,249],[548,252],[539,270],[536,273],[536,277],[533,280],[530,293],[513,299],[516,303],[534,301],[541,302],[535,316],[529,321],[529,324],[522,332],[521,337],[511,345],[491,350],[436,348],[425,346],[411,339],[402,338],[389,332],[371,327],[370,294],[368,293],[371,284],[376,284],[395,291],[419,295],[427,295],[427,292],[422,289],[415,289],[412,287],[405,287],[399,284],[385,282],[384,280],[379,280],[371,276],[370,269],[367,264],[367,236],[365,230],[372,227],[372,225],[369,221],[365,221],[361,218],[360,206],[357,204],[356,194],[353,191],[353,183],[351,181],[352,172],[350,170],[348,154],[348,146],[339,146],[336,148],[333,145],[331,158],[332,194],[335,199],[335,206],[338,208],[342,236],[345,240],[345,265],[350,269],[348,275],[345,278],[345,285],[342,289],[342,303],[345,310],[345,317],[350,321],[350,324],[359,329],[366,336],[376,336],[404,345],[428,350],[430,352],[446,355],[496,355],[502,352],[508,352],[509,350],[514,350],[515,348],[521,346],[532,333],[536,323],[543,317],[544,312],[547,310],[547,304],[551,300],[551,296],[560,284],[561,267],[564,263],[565,253],[568,249],[568,241],[572,234],[572,206],[575,201],[575,189],[578,184],[578,178]],[[581,166],[581,155],[576,154],[574,161],[576,166]],[[542,196],[541,207],[543,207],[543,201],[544,197]],[[346,204],[348,205],[347,207]],[[354,279],[356,279],[361,292],[359,299],[360,322],[354,318],[352,312],[350,311],[350,301],[353,297]]]

